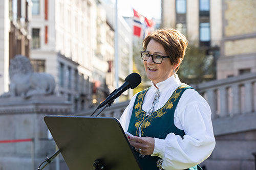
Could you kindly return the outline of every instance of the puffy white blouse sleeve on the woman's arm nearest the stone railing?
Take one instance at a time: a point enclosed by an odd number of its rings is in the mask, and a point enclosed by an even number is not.
[[[186,169],[208,158],[215,148],[211,111],[195,90],[186,90],[176,107],[176,118],[185,132],[183,139],[169,133],[165,139],[155,138],[152,156],[163,159],[164,169]]]

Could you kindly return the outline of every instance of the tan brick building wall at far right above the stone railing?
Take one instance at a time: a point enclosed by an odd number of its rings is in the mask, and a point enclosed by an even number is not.
[[[256,72],[256,2],[222,1],[221,56],[218,79]]]

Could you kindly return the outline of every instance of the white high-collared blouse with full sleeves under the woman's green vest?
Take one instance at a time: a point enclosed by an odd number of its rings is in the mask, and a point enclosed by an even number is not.
[[[157,83],[160,98],[154,109],[163,107],[180,85],[182,83],[177,74]],[[152,83],[152,87],[146,92],[142,104],[143,110],[148,111],[151,108],[156,90]],[[133,96],[120,117],[124,131],[129,127],[137,94]],[[205,99],[194,89],[185,90],[174,113],[175,126],[185,132],[183,139],[174,133],[169,133],[165,139],[155,138],[155,148],[151,156],[163,159],[162,168],[164,169],[186,169],[204,161],[215,148],[210,115],[210,107]]]

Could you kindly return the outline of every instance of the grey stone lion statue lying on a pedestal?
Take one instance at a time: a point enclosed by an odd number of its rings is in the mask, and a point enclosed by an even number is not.
[[[54,93],[53,76],[44,72],[34,72],[30,60],[23,55],[16,55],[10,61],[9,76],[10,89],[1,95],[2,98],[14,96],[29,98],[32,95]]]

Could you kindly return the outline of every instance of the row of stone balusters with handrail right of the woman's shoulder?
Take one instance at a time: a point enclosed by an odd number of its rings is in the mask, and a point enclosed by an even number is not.
[[[255,112],[256,72],[193,87],[210,105],[213,119]]]

